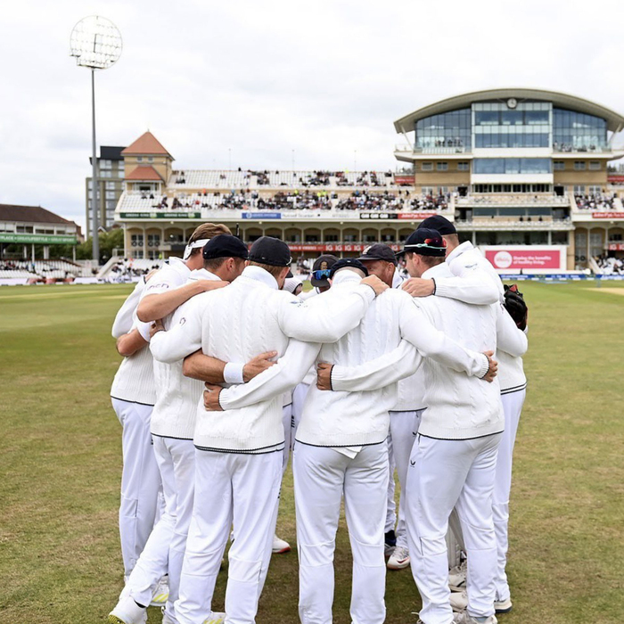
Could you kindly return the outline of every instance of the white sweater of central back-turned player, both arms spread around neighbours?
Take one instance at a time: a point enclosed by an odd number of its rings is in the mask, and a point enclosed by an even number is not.
[[[330,291],[308,302],[310,308],[335,308],[357,288],[359,278],[351,271],[338,273]],[[419,350],[439,357],[465,373],[483,376],[488,361],[450,341],[427,321],[417,303],[404,291],[388,290],[368,308],[362,322],[331,344],[314,345],[291,341],[276,365],[244,385],[222,390],[219,402],[225,410],[240,408],[254,400],[279,395],[304,377],[316,359],[335,365],[354,366],[395,349],[405,337]],[[413,374],[422,357],[409,345],[403,357],[403,376]],[[409,365],[405,363],[409,361]],[[464,374],[464,373],[462,373]],[[333,379],[333,375],[332,375]],[[346,391],[322,391],[311,385],[297,428],[299,442],[323,447],[358,447],[386,439],[389,410],[397,400],[397,380],[378,387]]]

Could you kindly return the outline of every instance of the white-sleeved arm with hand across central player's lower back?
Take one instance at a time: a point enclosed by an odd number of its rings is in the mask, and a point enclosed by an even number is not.
[[[349,392],[379,390],[415,374],[422,362],[423,357],[414,345],[400,341],[396,349],[357,366],[319,364],[316,367],[316,387],[319,390]]]

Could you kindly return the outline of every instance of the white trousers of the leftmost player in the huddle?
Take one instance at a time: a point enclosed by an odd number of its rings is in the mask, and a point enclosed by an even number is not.
[[[119,538],[124,576],[130,576],[150,537],[158,510],[160,473],[152,448],[153,406],[111,398],[123,427]]]

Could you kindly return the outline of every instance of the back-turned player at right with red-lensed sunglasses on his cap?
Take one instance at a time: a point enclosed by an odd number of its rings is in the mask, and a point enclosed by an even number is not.
[[[447,279],[446,242],[435,230],[419,228],[406,241],[409,274]],[[499,304],[475,306],[428,297],[423,309],[438,328],[472,349],[498,347],[518,357],[526,336]],[[474,382],[431,360],[425,361],[425,401],[407,477],[407,535],[412,571],[423,597],[424,624],[495,624],[497,546],[492,495],[497,448],[505,427],[496,381]],[[453,615],[448,589],[445,536],[456,507],[468,555],[467,610]]]

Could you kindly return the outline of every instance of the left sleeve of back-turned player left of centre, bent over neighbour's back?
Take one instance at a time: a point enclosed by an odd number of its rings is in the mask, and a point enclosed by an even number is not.
[[[200,301],[195,305],[187,306],[185,316],[167,332],[160,321],[155,323],[156,327],[152,329],[150,341],[150,350],[154,359],[173,364],[201,349],[203,308],[201,308],[201,298],[197,300]]]

